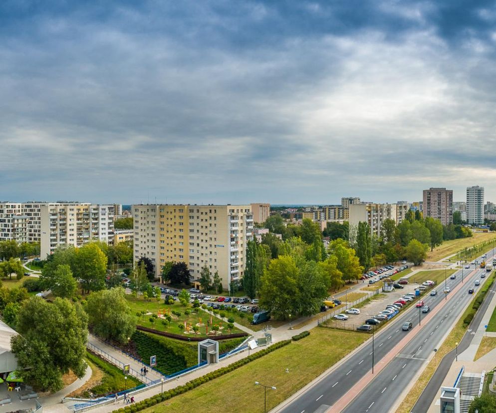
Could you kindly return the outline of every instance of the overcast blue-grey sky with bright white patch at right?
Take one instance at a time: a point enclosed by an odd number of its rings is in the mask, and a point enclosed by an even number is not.
[[[0,199],[496,201],[495,1],[0,2]]]

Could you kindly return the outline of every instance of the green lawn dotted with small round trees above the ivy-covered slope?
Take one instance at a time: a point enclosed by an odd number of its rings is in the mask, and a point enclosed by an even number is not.
[[[131,310],[133,313],[141,312],[141,311],[146,311],[147,313],[151,314],[146,314],[143,316],[138,317],[138,324],[144,327],[149,327],[149,328],[154,328],[159,331],[167,331],[169,333],[174,333],[174,334],[182,334],[183,330],[179,329],[179,324],[184,326],[184,323],[186,322],[187,327],[190,327],[190,333],[184,333],[185,336],[187,337],[192,337],[194,336],[194,332],[192,330],[192,327],[200,324],[200,331],[198,333],[199,337],[206,337],[207,333],[207,321],[210,321],[210,318],[212,318],[213,324],[218,324],[221,326],[221,332],[223,334],[230,334],[230,333],[241,333],[242,331],[237,329],[236,327],[229,332],[227,328],[227,322],[219,319],[218,317],[205,313],[202,310],[199,310],[198,313],[193,312],[193,308],[191,305],[188,307],[183,307],[181,304],[178,302],[175,302],[172,305],[164,304],[164,301],[161,299],[160,301],[157,301],[156,299],[152,298],[150,300],[144,300],[143,298],[134,298],[133,296],[127,294],[126,295],[126,300],[129,302],[129,305],[131,307]],[[173,320],[170,324],[167,326],[164,326],[162,324],[162,319],[159,318],[153,318],[153,314],[157,314],[159,310],[165,311],[167,314],[170,314],[173,317]],[[189,315],[185,314],[185,311],[191,311]],[[181,316],[177,317],[172,314],[172,311],[180,312]],[[152,323],[150,319],[153,319],[154,322]],[[209,327],[209,333],[211,331],[211,327]],[[209,334],[209,337],[211,335]]]

